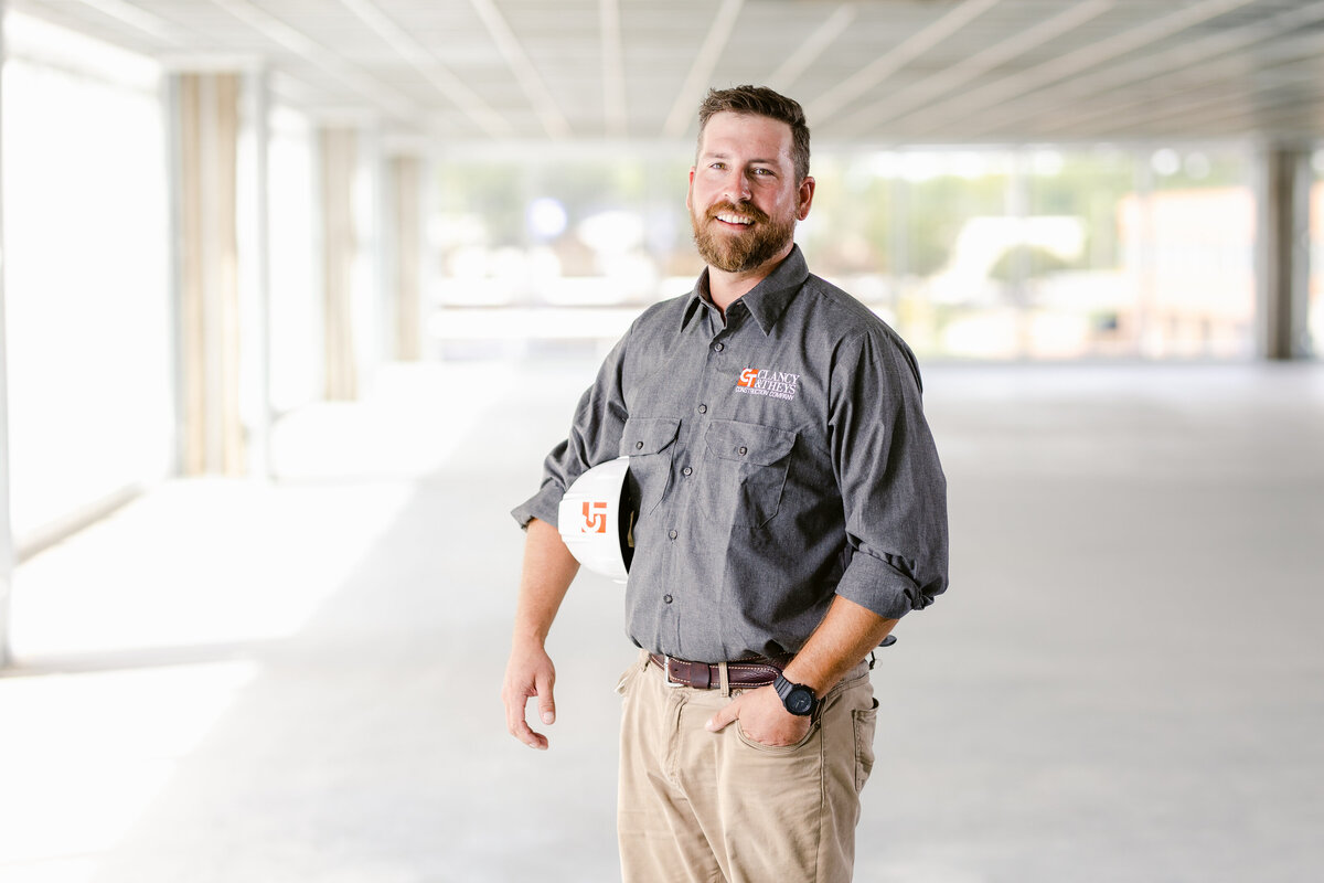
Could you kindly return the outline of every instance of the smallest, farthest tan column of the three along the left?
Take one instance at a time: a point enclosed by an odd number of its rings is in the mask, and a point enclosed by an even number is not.
[[[400,361],[422,356],[422,209],[420,160],[396,156],[391,160],[392,195],[392,285],[393,336],[391,352]]]

